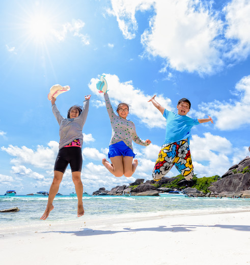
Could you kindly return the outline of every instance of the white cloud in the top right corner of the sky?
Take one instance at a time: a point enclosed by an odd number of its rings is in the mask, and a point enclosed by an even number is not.
[[[232,0],[223,11],[227,21],[225,36],[236,40],[228,56],[235,60],[245,59],[250,52],[250,2]]]

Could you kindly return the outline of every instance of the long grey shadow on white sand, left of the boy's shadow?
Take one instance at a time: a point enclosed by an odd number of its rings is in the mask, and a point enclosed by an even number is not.
[[[43,233],[62,233],[62,234],[74,234],[76,236],[93,236],[93,235],[103,235],[103,234],[116,234],[116,233],[127,233],[127,232],[140,232],[140,231],[154,231],[154,232],[188,232],[191,231],[188,227],[176,226],[176,227],[146,227],[146,228],[123,228],[123,230],[94,230],[90,228],[83,228],[80,231],[46,231]]]

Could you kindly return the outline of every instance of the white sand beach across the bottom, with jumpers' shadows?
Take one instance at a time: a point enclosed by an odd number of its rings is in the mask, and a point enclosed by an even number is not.
[[[250,264],[250,211],[134,215],[1,231],[1,264]]]

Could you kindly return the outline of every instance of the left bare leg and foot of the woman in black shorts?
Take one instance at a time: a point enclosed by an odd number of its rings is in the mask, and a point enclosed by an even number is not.
[[[44,214],[40,218],[41,220],[45,220],[49,216],[50,211],[54,208],[53,200],[54,200],[55,195],[57,195],[58,193],[60,183],[63,179],[63,174],[64,174],[63,172],[54,171],[54,178],[53,178],[52,184],[49,189],[47,207],[44,211]]]

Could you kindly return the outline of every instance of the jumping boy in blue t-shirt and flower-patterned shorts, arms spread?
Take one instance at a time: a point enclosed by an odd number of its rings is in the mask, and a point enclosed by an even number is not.
[[[164,109],[155,100],[155,96],[149,102],[151,101],[166,119],[166,134],[152,172],[153,179],[155,181],[162,179],[175,165],[185,179],[190,180],[193,177],[193,166],[189,150],[190,130],[193,125],[209,121],[213,123],[213,120],[209,116],[207,119],[192,119],[187,117],[186,114],[190,110],[191,103],[186,98],[178,101],[178,113],[175,114]]]

